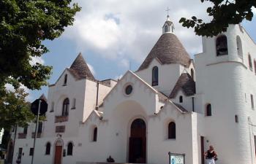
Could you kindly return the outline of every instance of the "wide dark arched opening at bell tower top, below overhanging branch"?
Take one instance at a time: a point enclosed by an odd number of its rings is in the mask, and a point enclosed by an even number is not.
[[[227,36],[221,35],[221,36],[217,37],[217,39],[216,39],[216,52],[217,52],[217,56],[228,54]]]

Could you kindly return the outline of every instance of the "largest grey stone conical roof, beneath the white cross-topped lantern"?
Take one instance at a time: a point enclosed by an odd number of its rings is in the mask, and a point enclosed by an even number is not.
[[[177,36],[171,33],[162,34],[138,71],[148,68],[154,58],[158,58],[162,64],[181,63],[187,67],[190,61],[189,54]]]

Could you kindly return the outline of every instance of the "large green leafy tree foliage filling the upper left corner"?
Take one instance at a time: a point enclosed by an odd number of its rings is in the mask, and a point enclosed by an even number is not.
[[[48,52],[42,44],[72,25],[78,4],[71,0],[0,1],[0,87],[21,83],[31,90],[47,85],[51,67],[31,63]]]

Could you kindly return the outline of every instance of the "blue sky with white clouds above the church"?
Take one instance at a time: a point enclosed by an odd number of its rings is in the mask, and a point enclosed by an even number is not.
[[[192,29],[182,27],[178,20],[193,15],[206,21],[211,19],[206,15],[211,4],[202,4],[200,0],[74,0],[72,3],[82,7],[75,15],[74,25],[67,27],[58,39],[45,41],[50,52],[34,59],[53,66],[49,84],[56,82],[79,52],[96,79],[118,79],[128,69],[136,71],[162,34],[167,7],[176,36],[194,58],[202,52],[201,38]],[[253,11],[256,14],[256,9]],[[256,41],[255,25],[256,18],[242,23]],[[42,93],[47,95],[48,87],[26,91],[28,101],[34,101]]]

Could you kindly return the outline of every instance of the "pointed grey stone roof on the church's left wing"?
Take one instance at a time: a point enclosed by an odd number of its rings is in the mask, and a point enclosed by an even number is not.
[[[89,69],[89,66],[86,63],[86,60],[83,59],[83,56],[81,53],[79,53],[78,57],[75,58],[74,62],[70,66],[70,69],[68,69],[70,73],[77,79],[94,79],[94,75],[91,74],[91,71]]]

